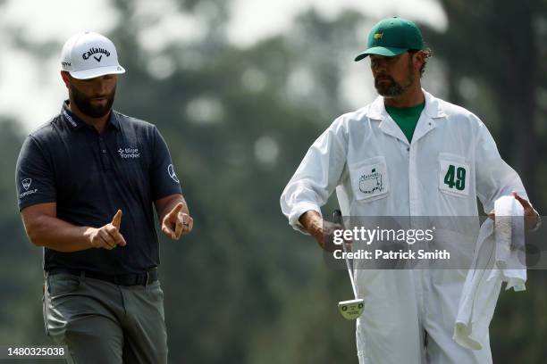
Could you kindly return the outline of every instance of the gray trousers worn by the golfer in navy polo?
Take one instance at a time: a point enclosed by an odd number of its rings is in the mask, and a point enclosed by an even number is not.
[[[114,285],[55,274],[46,277],[46,334],[68,346],[68,363],[167,363],[160,282]]]

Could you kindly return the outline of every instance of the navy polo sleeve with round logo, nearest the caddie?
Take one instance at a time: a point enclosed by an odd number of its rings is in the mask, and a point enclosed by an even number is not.
[[[152,198],[159,200],[170,194],[181,194],[181,182],[175,173],[173,161],[164,137],[154,127],[153,158],[150,166],[150,186]]]

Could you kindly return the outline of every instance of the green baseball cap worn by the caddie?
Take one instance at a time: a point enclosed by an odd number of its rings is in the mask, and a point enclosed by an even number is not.
[[[368,54],[393,57],[409,49],[424,49],[424,39],[415,23],[395,16],[374,25],[368,33],[366,47],[366,51],[359,54],[355,62],[366,58]]]

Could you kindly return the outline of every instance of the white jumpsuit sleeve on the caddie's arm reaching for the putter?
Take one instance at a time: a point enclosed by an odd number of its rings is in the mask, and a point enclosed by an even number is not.
[[[307,234],[299,223],[299,217],[310,210],[321,214],[321,206],[340,183],[347,150],[343,123],[341,119],[335,120],[308,149],[298,170],[283,190],[280,203],[290,226]]]

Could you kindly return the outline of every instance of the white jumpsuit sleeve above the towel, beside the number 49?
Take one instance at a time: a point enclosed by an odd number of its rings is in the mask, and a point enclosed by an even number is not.
[[[528,200],[518,173],[501,159],[498,147],[484,123],[478,120],[476,138],[476,194],[483,203],[484,213],[494,208],[494,202],[504,195],[517,192]]]

